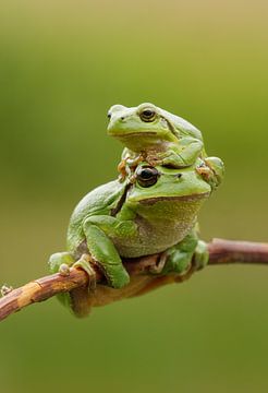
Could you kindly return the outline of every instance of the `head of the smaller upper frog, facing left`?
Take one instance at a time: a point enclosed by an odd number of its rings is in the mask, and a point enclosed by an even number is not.
[[[133,108],[113,105],[108,118],[108,134],[136,153],[165,141],[176,142],[179,138],[172,121],[154,104],[145,103]]]

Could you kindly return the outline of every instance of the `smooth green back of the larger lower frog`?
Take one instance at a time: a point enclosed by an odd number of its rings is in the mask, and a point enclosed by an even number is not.
[[[88,192],[74,209],[68,228],[68,249],[75,250],[84,240],[83,222],[89,215],[109,215],[124,192],[118,180],[99,186]]]

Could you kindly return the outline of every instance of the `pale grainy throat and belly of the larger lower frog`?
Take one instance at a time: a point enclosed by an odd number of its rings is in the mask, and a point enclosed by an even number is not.
[[[203,199],[157,201],[139,204],[136,224],[138,234],[129,238],[112,239],[120,255],[136,258],[167,250],[180,242],[196,223]]]

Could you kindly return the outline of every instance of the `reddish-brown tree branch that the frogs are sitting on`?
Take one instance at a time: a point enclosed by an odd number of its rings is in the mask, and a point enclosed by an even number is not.
[[[208,264],[211,265],[222,265],[227,263],[268,264],[268,243],[214,239],[208,243]],[[190,269],[183,276],[153,276],[149,272],[151,269],[157,267],[159,254],[143,257],[135,260],[124,260],[123,262],[132,278],[132,283],[130,284],[130,287],[132,285],[132,290],[127,290],[127,288],[126,290],[112,289],[100,285],[102,291],[105,288],[106,294],[108,294],[108,290],[110,291],[109,296],[110,294],[113,294],[112,300],[142,295],[165,284],[183,282],[194,273],[194,269]],[[96,278],[97,282],[100,282],[102,278],[102,275],[98,270],[96,270]],[[139,283],[141,279],[144,279],[142,286],[141,284],[139,286],[137,285],[138,279]],[[66,276],[57,273],[35,279],[20,288],[10,290],[0,299],[0,321],[28,305],[47,300],[57,294],[72,291],[82,287],[85,288],[87,284],[88,276],[80,269],[71,269],[70,274]],[[5,290],[7,289],[8,288],[5,288]],[[114,296],[114,294],[119,293],[120,297]],[[102,301],[101,303],[105,302]]]

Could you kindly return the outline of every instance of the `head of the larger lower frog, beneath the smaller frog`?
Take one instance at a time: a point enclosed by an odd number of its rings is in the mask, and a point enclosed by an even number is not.
[[[211,187],[193,167],[171,169],[142,163],[135,170],[127,201],[150,205],[159,201],[169,201],[172,210],[176,201],[195,203],[208,198],[210,192]]]

